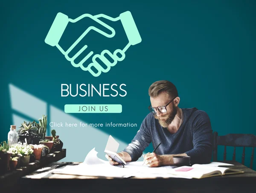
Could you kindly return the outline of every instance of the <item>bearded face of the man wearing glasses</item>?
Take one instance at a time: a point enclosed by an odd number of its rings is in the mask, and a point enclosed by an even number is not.
[[[165,92],[160,93],[156,98],[150,97],[151,106],[152,107],[160,107],[168,104],[172,98],[169,97]],[[174,105],[174,101],[172,101],[167,107],[166,112],[161,113],[157,110],[157,114],[154,115],[154,118],[156,118],[159,121],[159,124],[162,127],[167,128],[169,124],[172,123],[173,119],[175,118],[175,115],[177,114],[177,109]]]

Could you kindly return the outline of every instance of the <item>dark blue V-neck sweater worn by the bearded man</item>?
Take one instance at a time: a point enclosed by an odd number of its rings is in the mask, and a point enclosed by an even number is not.
[[[143,120],[140,130],[130,144],[123,150],[137,161],[146,147],[162,142],[155,153],[157,155],[186,153],[191,156],[192,164],[209,163],[212,158],[212,128],[206,112],[196,108],[183,109],[183,122],[176,133],[160,126],[152,113]]]

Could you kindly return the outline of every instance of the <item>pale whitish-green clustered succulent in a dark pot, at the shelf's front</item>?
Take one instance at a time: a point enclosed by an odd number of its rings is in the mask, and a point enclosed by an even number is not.
[[[18,142],[17,148],[18,148],[18,152],[22,155],[22,156],[20,156],[20,166],[28,165],[29,158],[30,158],[30,155],[33,153],[33,150],[26,143],[26,139],[25,139],[25,143],[23,143],[23,144]]]

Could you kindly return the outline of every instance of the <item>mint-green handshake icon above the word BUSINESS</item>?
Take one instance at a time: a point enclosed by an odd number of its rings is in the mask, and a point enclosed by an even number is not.
[[[59,41],[61,39],[61,36],[63,35],[67,24],[69,22],[71,23],[76,23],[77,21],[83,19],[84,17],[89,17],[90,19],[94,20],[95,22],[97,22],[99,25],[102,25],[103,27],[105,27],[106,29],[109,30],[109,32],[111,32],[110,34],[103,32],[102,30],[100,30],[99,28],[96,28],[95,26],[90,26],[88,27],[81,35],[80,37],[72,44],[72,46],[70,46],[70,48],[67,49],[67,51],[64,51],[64,49],[61,48],[61,46],[59,46]],[[81,61],[79,61],[78,63],[75,63],[75,59],[82,53],[84,52],[85,49],[87,49],[87,45],[84,45],[73,57],[69,57],[68,54],[73,50],[73,48],[88,34],[88,32],[90,32],[90,30],[94,30],[95,32],[111,38],[114,37],[116,32],[115,30],[107,25],[106,23],[102,22],[101,20],[99,20],[99,18],[105,18],[107,20],[111,20],[111,21],[118,21],[121,20],[122,26],[125,30],[125,34],[128,37],[128,44],[123,48],[123,49],[116,49],[113,53],[111,53],[109,50],[105,49],[103,50],[100,54],[94,54],[93,51],[89,52],[89,54],[87,54]],[[93,76],[97,77],[101,74],[101,72],[108,72],[112,66],[115,66],[116,63],[118,61],[122,61],[125,59],[125,52],[126,50],[131,46],[131,45],[136,45],[137,43],[141,42],[141,37],[140,37],[140,33],[137,29],[137,26],[134,22],[134,19],[131,15],[131,12],[127,11],[127,12],[123,12],[119,15],[119,17],[113,18],[113,17],[109,17],[108,15],[105,14],[98,14],[98,15],[91,15],[91,14],[83,14],[80,17],[77,17],[76,19],[70,19],[68,18],[67,15],[63,14],[63,13],[58,13],[55,17],[55,20],[52,23],[51,28],[49,29],[49,32],[45,38],[45,43],[49,44],[50,46],[56,46],[61,53],[65,56],[65,58],[71,62],[72,66],[74,67],[80,67],[82,70],[84,71],[88,71],[90,72]],[[112,62],[110,62],[106,57],[105,54],[107,54],[109,57],[111,57],[113,60],[111,60]],[[92,59],[90,61],[92,61],[89,65],[84,66],[84,62],[89,60],[90,57],[92,56]],[[105,68],[103,68],[97,61],[96,59],[101,60],[104,64],[105,64]],[[94,67],[94,71],[93,68]]]

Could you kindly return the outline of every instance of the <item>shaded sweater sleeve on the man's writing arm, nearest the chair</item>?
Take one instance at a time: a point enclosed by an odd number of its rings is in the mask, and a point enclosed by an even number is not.
[[[192,123],[193,149],[185,152],[191,164],[208,164],[212,158],[212,127],[209,116],[201,111]]]

